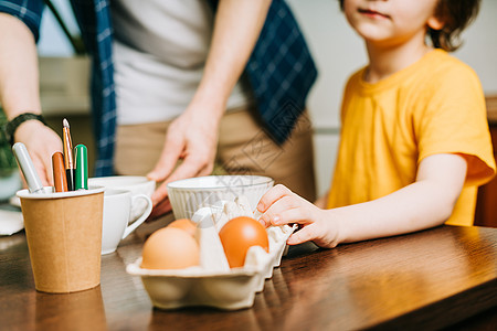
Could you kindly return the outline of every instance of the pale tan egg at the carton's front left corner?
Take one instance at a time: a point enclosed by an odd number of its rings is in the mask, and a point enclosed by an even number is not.
[[[163,227],[145,242],[141,257],[145,269],[182,269],[199,265],[200,249],[186,231]]]

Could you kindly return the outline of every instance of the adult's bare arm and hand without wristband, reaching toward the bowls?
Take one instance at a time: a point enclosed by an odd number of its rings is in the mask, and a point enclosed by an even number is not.
[[[257,41],[271,0],[221,0],[203,77],[186,111],[169,127],[165,148],[148,174],[165,181],[152,195],[154,214],[167,212],[167,183],[211,173],[226,100]],[[179,159],[183,159],[176,170]]]

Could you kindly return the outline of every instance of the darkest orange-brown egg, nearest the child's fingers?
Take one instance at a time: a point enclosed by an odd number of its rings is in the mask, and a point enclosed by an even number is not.
[[[254,218],[240,216],[230,220],[219,232],[224,254],[231,268],[243,267],[252,246],[269,252],[269,239],[264,226]]]

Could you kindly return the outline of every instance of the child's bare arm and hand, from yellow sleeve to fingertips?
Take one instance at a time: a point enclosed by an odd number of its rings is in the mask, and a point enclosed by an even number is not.
[[[264,212],[261,222],[266,225],[304,225],[288,238],[290,245],[313,241],[335,247],[404,234],[441,225],[451,216],[466,169],[461,156],[435,154],[421,161],[414,183],[370,202],[321,210],[277,185],[264,194],[257,210]]]

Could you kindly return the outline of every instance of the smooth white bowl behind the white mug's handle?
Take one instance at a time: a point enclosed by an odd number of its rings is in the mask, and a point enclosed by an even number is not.
[[[149,180],[145,175],[112,175],[112,177],[95,177],[88,179],[89,185],[98,185],[108,189],[126,190],[131,192],[131,196],[138,194],[145,194],[151,197],[154,191],[156,190],[156,182]],[[140,215],[144,214],[147,203],[141,199],[138,199],[136,203],[133,204],[130,211],[130,222],[136,221]]]

